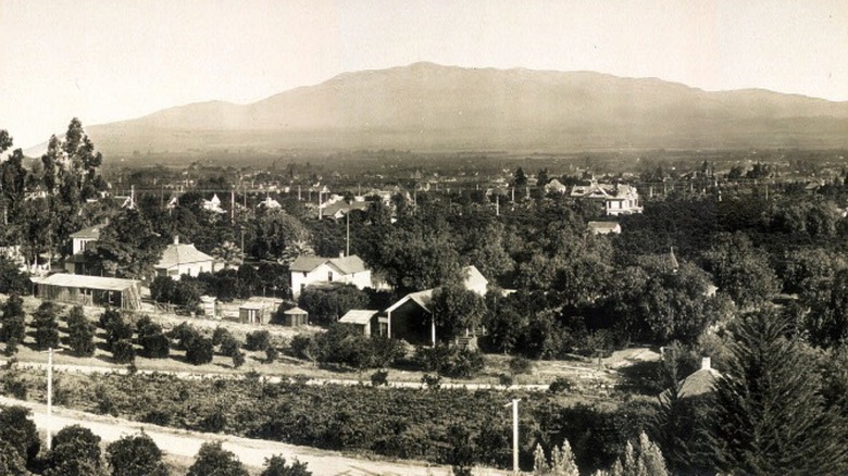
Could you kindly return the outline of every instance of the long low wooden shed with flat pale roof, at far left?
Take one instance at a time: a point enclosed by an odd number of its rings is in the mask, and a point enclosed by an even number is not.
[[[41,299],[80,305],[141,309],[141,286],[135,279],[65,273],[30,279],[36,296]]]

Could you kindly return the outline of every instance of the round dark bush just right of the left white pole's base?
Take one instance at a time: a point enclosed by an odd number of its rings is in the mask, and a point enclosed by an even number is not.
[[[100,473],[100,437],[79,425],[66,426],[53,437],[47,454],[46,476]]]

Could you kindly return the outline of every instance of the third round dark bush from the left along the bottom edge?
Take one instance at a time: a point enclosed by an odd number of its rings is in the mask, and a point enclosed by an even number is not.
[[[167,476],[162,450],[144,431],[107,446],[107,461],[112,476]]]

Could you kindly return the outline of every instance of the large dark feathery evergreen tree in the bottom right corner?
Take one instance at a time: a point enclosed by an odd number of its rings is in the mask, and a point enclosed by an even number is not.
[[[715,383],[711,446],[723,472],[845,474],[844,419],[825,408],[812,358],[775,312],[745,316]]]

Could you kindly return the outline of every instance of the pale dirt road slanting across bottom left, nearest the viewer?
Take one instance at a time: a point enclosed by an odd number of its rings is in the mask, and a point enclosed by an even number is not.
[[[130,422],[123,418],[96,415],[75,410],[53,406],[51,418],[47,416],[47,408],[40,403],[20,401],[7,397],[0,397],[0,404],[22,405],[33,411],[33,421],[41,430],[48,428],[55,434],[65,426],[78,424],[89,428],[108,443],[125,435],[132,435],[145,430],[164,452],[194,459],[200,446],[207,441],[222,441],[223,448],[236,453],[248,466],[262,467],[266,458],[274,454],[283,455],[287,461],[297,458],[309,464],[309,469],[315,476],[441,476],[450,475],[450,468],[446,466],[432,466],[423,462],[390,462],[372,461],[345,456],[333,451],[322,451],[308,447],[297,447],[274,441],[254,440],[226,435],[185,431],[155,425]],[[476,468],[477,476],[507,475],[508,472]]]

